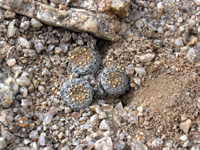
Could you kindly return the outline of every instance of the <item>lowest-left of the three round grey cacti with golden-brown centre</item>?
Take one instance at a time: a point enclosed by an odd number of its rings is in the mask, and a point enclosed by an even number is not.
[[[93,89],[88,81],[82,78],[73,78],[63,84],[60,96],[68,107],[77,111],[92,102]]]

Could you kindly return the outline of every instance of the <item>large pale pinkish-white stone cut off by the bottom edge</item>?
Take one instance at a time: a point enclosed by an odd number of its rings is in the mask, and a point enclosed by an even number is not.
[[[94,144],[95,150],[113,150],[113,142],[110,137],[97,140]]]

